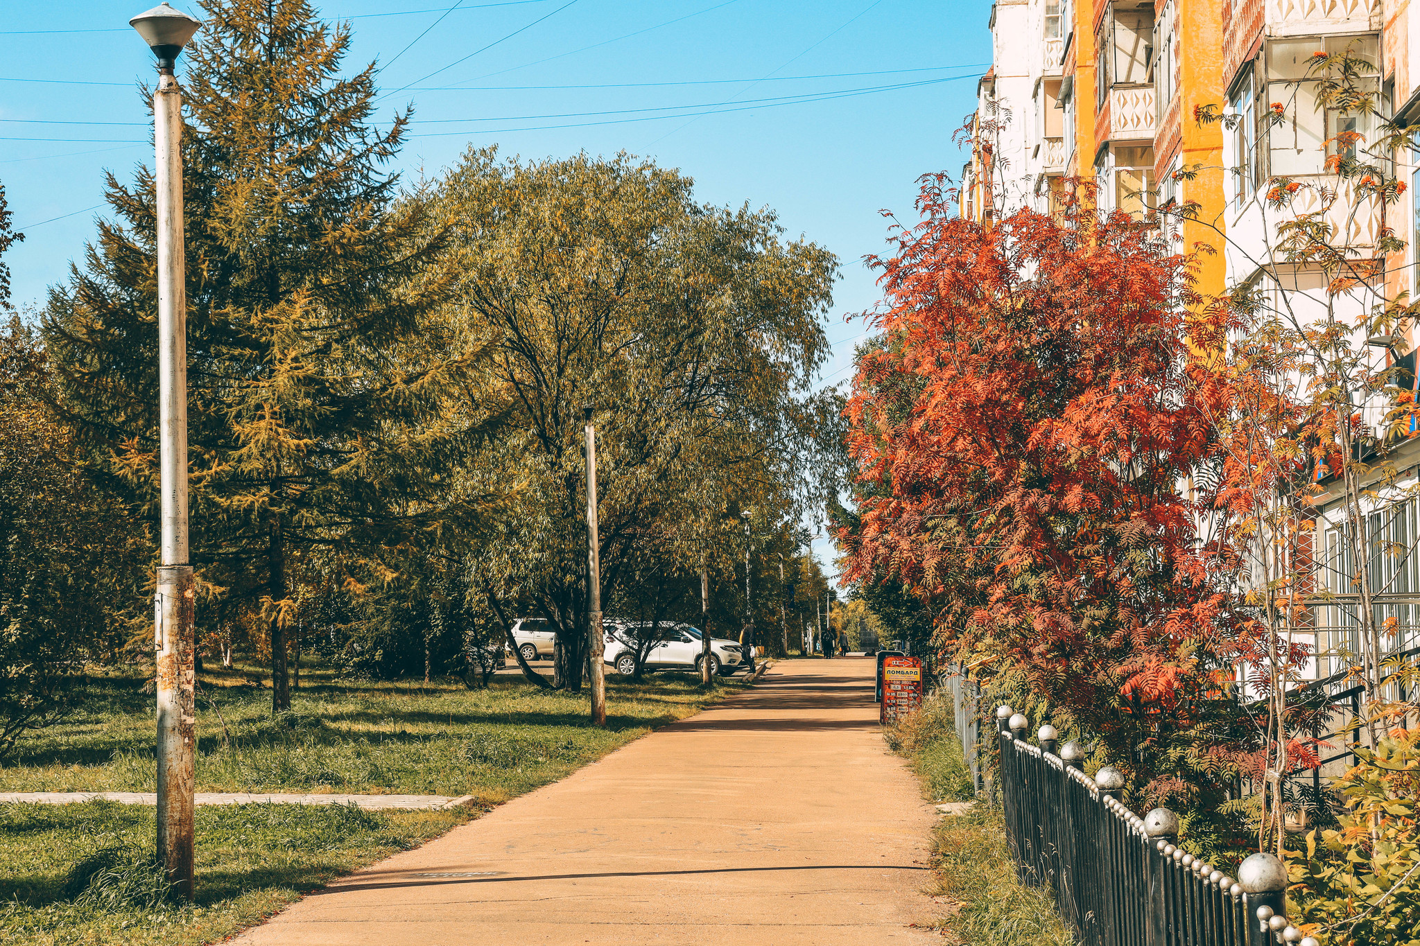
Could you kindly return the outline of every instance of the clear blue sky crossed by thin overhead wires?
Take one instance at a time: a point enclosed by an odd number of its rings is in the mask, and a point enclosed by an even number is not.
[[[26,233],[7,254],[20,306],[43,299],[81,255],[105,210],[97,207],[104,169],[126,180],[152,160],[136,94],[152,57],[126,24],[151,1],[6,3],[0,183]],[[173,6],[202,16],[193,0]],[[524,157],[626,150],[690,174],[703,201],[771,207],[788,235],[831,248],[842,279],[825,383],[848,377],[863,332],[843,316],[878,298],[861,258],[883,248],[879,211],[910,220],[917,176],[960,170],[951,132],[990,61],[985,0],[327,0],[317,9],[351,17],[351,68],[382,64],[383,119],[415,105],[399,162],[409,176],[439,173],[469,143]],[[826,563],[826,545],[816,549]]]

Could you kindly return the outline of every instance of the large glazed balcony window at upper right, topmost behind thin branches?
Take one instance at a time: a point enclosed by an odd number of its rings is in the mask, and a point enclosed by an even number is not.
[[[1275,177],[1321,174],[1326,172],[1326,155],[1336,153],[1332,139],[1340,132],[1360,132],[1373,140],[1379,119],[1340,109],[1322,109],[1318,101],[1321,75],[1311,68],[1316,52],[1335,55],[1350,50],[1352,55],[1376,62],[1376,37],[1304,37],[1275,40],[1267,50],[1267,108],[1279,108],[1282,121],[1268,130],[1268,173]],[[1379,71],[1379,69],[1377,69]],[[1359,82],[1363,92],[1376,92],[1379,77]],[[1377,102],[1377,108],[1383,108]],[[1331,142],[1331,145],[1329,145]],[[1365,143],[1362,145],[1365,148]],[[1355,156],[1355,146],[1340,153]]]

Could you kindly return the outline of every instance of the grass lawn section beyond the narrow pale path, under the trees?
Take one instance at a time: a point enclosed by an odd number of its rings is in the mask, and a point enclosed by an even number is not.
[[[692,674],[608,682],[606,729],[586,723],[588,696],[497,677],[462,682],[342,681],[302,671],[291,711],[243,675],[203,674],[197,696],[197,791],[476,796],[497,804],[555,781],[632,739],[744,686]],[[226,728],[223,728],[223,720]],[[142,681],[98,678],[64,723],[23,743],[0,791],[155,791],[153,696]]]

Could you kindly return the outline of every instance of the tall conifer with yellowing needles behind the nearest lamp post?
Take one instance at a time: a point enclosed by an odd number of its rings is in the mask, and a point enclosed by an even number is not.
[[[186,58],[192,547],[209,594],[270,631],[273,709],[302,549],[389,550],[437,530],[440,461],[466,433],[457,355],[432,312],[443,231],[385,170],[409,112],[372,122],[375,65],[305,0],[204,0]],[[116,221],[51,292],[67,407],[158,508],[153,174],[109,173]]]

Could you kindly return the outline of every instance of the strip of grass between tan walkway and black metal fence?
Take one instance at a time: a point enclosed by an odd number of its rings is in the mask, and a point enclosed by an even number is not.
[[[971,777],[953,725],[951,695],[939,691],[910,718],[883,730],[933,801],[973,797]],[[1071,946],[1049,891],[1020,882],[998,810],[978,803],[968,814],[944,816],[932,838],[937,919],[949,942],[971,946]]]

